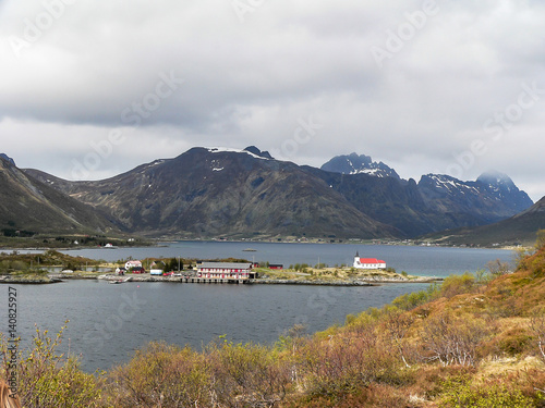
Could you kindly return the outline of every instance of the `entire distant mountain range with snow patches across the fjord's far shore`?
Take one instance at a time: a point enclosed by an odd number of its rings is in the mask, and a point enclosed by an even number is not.
[[[197,147],[94,182],[24,173],[93,208],[100,227],[106,220],[154,237],[407,238],[491,224],[533,205],[500,173],[475,182],[428,174],[416,183],[365,156],[317,169],[275,160],[254,146]]]

